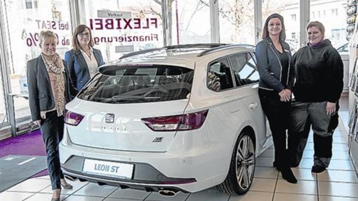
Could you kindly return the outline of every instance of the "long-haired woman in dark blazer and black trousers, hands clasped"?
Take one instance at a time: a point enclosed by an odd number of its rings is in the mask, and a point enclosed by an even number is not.
[[[286,130],[289,119],[294,68],[290,46],[285,43],[284,19],[279,14],[270,15],[265,22],[262,41],[256,45],[257,67],[260,74],[258,95],[270,123],[275,146],[274,166],[282,178],[297,183],[286,149]]]

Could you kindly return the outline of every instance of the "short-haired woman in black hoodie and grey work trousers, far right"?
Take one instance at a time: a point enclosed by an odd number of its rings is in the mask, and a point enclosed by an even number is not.
[[[296,82],[293,93],[289,151],[291,166],[298,166],[310,126],[313,129],[314,165],[312,172],[323,172],[332,157],[332,135],[338,126],[338,101],[343,90],[343,62],[318,21],[307,25],[309,43],[293,59]]]

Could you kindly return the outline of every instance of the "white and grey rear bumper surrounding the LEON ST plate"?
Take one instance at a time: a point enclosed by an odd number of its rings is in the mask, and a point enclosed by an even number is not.
[[[159,191],[174,188],[197,192],[223,182],[228,166],[215,149],[169,152],[128,152],[78,146],[64,138],[60,143],[60,162],[65,175],[99,184]],[[66,142],[67,141],[67,142]],[[131,180],[82,172],[85,158],[134,164]]]

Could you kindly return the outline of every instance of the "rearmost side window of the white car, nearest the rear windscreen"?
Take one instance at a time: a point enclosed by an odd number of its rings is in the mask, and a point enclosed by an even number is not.
[[[207,81],[208,88],[215,92],[234,87],[231,69],[226,58],[218,59],[209,64]]]

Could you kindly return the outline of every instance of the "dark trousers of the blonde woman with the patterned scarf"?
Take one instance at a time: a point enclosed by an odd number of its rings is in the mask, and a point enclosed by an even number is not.
[[[50,175],[52,190],[61,189],[63,173],[60,168],[58,144],[63,138],[64,120],[58,117],[57,111],[47,112],[46,118],[41,120],[40,130],[47,153],[47,168]]]

